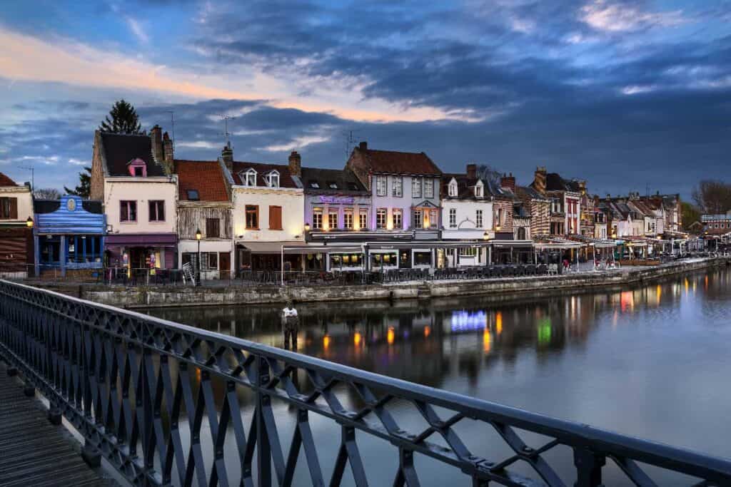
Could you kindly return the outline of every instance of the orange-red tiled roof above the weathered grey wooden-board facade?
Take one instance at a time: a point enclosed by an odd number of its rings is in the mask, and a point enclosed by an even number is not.
[[[188,200],[188,191],[198,192],[202,202],[229,201],[224,174],[219,161],[183,161],[175,159],[175,174],[178,175],[178,198]]]

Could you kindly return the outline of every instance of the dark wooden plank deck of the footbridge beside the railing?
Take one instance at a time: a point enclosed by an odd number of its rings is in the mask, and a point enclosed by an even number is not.
[[[0,362],[0,486],[111,486],[81,459],[64,426],[53,426],[43,404],[23,394]]]

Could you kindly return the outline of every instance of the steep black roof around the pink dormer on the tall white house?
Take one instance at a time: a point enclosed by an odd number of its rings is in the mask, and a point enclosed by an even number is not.
[[[107,172],[110,176],[129,176],[127,164],[133,159],[147,163],[148,176],[164,176],[161,164],[152,157],[152,141],[148,135],[108,134],[102,132]]]

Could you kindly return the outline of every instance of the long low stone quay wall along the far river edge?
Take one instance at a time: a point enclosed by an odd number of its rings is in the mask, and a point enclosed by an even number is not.
[[[584,292],[597,288],[622,288],[663,277],[711,269],[731,264],[730,258],[703,258],[653,267],[623,268],[610,272],[582,272],[560,276],[507,277],[413,281],[374,285],[230,285],[227,287],[105,286],[44,283],[43,288],[70,296],[118,307],[181,307],[227,304],[286,302],[338,302],[353,300],[430,299],[481,296],[491,301],[535,299],[566,291]]]

